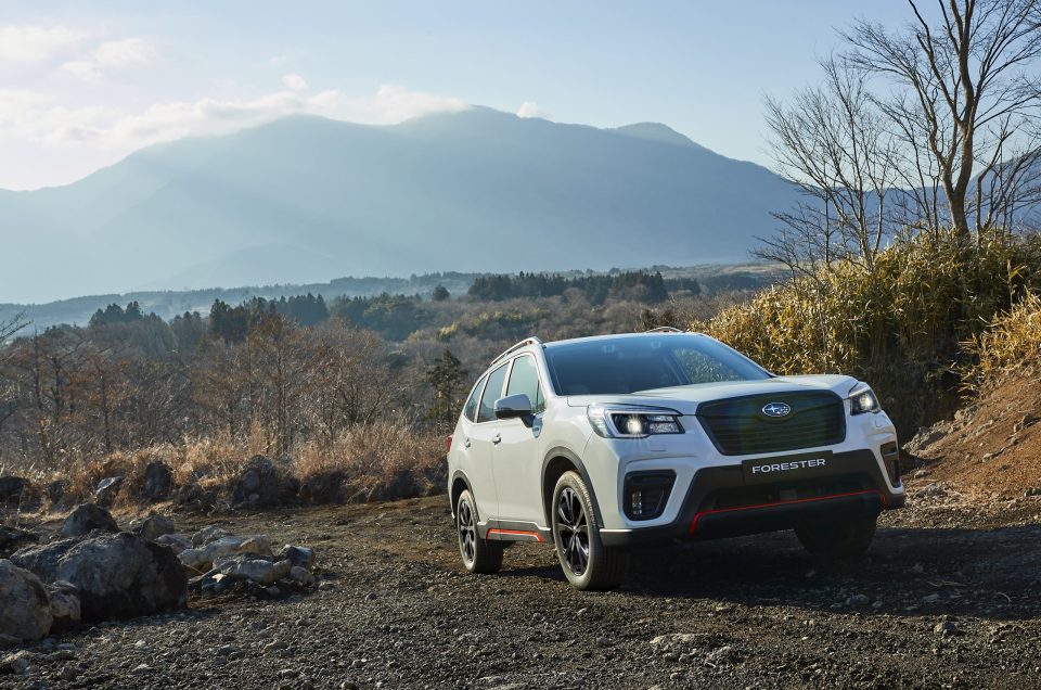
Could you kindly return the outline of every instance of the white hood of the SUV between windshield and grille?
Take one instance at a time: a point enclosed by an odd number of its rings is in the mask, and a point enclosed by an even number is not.
[[[793,391],[831,391],[845,398],[857,383],[857,379],[852,376],[838,374],[774,376],[762,381],[696,383],[689,386],[640,391],[627,395],[571,395],[567,396],[567,404],[571,407],[588,407],[595,404],[646,405],[648,407],[666,407],[681,414],[694,414],[697,406],[702,403],[747,395],[776,394],[780,396]]]

